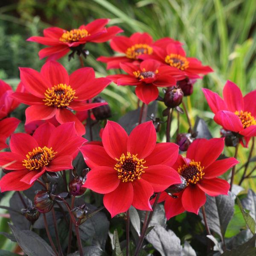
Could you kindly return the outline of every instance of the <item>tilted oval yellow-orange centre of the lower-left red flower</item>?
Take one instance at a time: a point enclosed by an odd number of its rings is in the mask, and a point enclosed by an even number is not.
[[[23,166],[26,167],[29,171],[38,170],[44,166],[47,166],[50,161],[52,161],[54,154],[52,148],[34,148],[32,152],[29,152],[24,161],[22,161]]]

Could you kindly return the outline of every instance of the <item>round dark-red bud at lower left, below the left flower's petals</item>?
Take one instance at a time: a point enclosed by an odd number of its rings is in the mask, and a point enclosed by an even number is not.
[[[49,212],[55,204],[48,190],[43,190],[35,195],[34,203],[39,212]]]

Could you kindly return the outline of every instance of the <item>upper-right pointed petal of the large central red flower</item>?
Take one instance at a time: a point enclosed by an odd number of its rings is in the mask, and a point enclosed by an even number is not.
[[[139,159],[147,157],[154,150],[157,142],[157,133],[153,122],[145,122],[136,126],[127,141],[127,150],[137,155]]]

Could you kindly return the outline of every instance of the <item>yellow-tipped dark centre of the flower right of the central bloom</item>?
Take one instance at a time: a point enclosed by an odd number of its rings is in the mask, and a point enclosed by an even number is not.
[[[196,184],[198,181],[200,181],[204,176],[204,166],[201,166],[201,163],[195,162],[192,160],[189,163],[189,166],[186,164],[183,165],[183,167],[180,166],[178,169],[178,173],[186,179],[187,185],[189,184]]]

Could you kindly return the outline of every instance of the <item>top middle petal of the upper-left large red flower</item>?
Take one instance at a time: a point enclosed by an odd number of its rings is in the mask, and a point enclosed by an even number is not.
[[[49,88],[58,84],[70,85],[67,70],[57,61],[47,61],[41,69],[41,74],[49,81]]]

